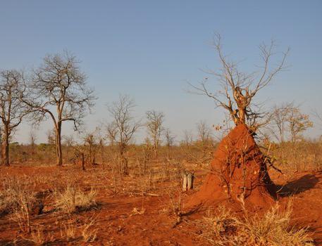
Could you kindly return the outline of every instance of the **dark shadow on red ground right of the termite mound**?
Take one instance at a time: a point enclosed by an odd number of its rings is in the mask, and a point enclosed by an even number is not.
[[[320,182],[320,179],[317,174],[306,174],[299,179],[290,181],[284,185],[276,185],[278,188],[278,196],[284,198],[291,195],[297,195],[314,188],[318,182]]]

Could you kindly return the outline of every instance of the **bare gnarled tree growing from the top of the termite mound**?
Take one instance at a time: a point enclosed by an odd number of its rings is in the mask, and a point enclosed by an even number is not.
[[[221,89],[216,92],[211,92],[209,89],[209,79],[206,77],[198,86],[192,86],[194,93],[208,96],[213,100],[216,107],[225,108],[230,113],[230,117],[235,124],[248,124],[252,131],[256,131],[260,127],[258,119],[263,118],[262,112],[255,110],[252,105],[252,99],[261,89],[270,84],[278,74],[284,70],[285,59],[289,49],[282,53],[282,58],[278,65],[271,67],[273,55],[275,55],[275,43],[261,44],[259,46],[261,52],[261,60],[263,65],[259,66],[260,71],[251,72],[249,74],[241,72],[237,63],[228,60],[223,53],[221,44],[221,36],[216,34],[213,46],[218,53],[218,58],[221,63],[221,69],[218,71],[210,71],[209,74],[216,77]]]

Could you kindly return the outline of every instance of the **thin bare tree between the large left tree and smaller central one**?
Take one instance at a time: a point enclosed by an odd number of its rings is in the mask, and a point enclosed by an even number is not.
[[[128,174],[128,145],[140,127],[140,122],[136,122],[132,116],[134,108],[134,101],[123,95],[108,107],[112,121],[107,125],[107,136],[111,143],[118,146],[120,171],[123,174]]]

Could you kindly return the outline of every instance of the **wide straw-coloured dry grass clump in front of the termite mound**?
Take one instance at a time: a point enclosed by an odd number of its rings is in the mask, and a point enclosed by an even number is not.
[[[280,209],[272,207],[264,216],[244,216],[242,219],[225,207],[216,214],[209,214],[199,221],[202,238],[211,245],[268,245],[311,246],[314,240],[307,228],[291,225],[291,206]]]

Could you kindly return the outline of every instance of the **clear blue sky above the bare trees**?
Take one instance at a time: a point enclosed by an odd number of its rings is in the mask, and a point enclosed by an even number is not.
[[[207,98],[185,92],[202,69],[216,67],[213,32],[225,51],[244,60],[245,70],[259,57],[258,45],[272,38],[280,51],[291,48],[287,72],[259,94],[268,107],[302,103],[322,112],[322,1],[1,1],[0,69],[37,67],[47,53],[72,51],[82,60],[99,100],[87,128],[109,121],[106,103],[119,93],[135,98],[137,117],[162,110],[166,126],[180,138],[200,119],[221,122]],[[38,141],[44,141],[42,124]],[[311,131],[321,134],[322,127]],[[27,141],[24,124],[16,140]],[[70,134],[69,127],[63,134]],[[141,136],[144,133],[141,133]]]

